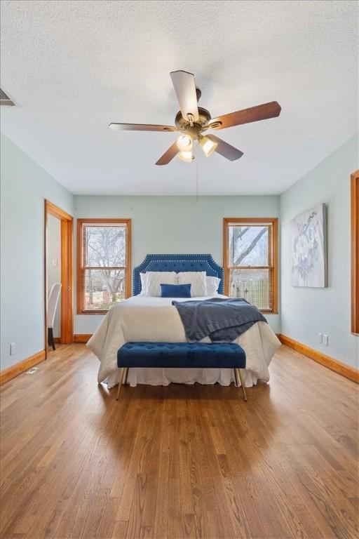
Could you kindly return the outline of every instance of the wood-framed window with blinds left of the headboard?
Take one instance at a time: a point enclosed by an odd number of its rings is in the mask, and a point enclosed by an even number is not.
[[[131,220],[77,220],[77,312],[104,314],[131,294]]]

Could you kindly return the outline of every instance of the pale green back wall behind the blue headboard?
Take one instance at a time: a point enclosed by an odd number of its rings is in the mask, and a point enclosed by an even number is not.
[[[219,179],[220,181],[220,179]],[[147,253],[210,253],[222,265],[224,217],[278,217],[271,197],[75,197],[76,218],[131,218],[133,266]],[[77,315],[75,333],[93,333],[102,317]],[[268,316],[276,333],[280,315]]]

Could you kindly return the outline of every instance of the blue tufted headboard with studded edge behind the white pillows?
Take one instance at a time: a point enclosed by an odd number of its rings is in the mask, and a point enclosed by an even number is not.
[[[223,267],[211,255],[147,255],[133,270],[133,295],[141,292],[140,273],[146,272],[206,272],[221,279],[218,292],[223,294]]]

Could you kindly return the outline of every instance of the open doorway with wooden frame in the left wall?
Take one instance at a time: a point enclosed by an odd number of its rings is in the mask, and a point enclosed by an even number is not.
[[[73,340],[73,218],[72,215],[45,200],[45,350],[48,354],[48,291],[61,284],[55,310],[53,336],[55,342],[69,344]]]

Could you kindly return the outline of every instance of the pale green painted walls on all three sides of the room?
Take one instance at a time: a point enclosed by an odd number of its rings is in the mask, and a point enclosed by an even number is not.
[[[221,264],[223,217],[280,214],[281,317],[270,315],[269,323],[276,332],[357,364],[359,338],[351,335],[349,321],[349,175],[358,166],[356,136],[281,197],[73,197],[1,135],[1,369],[43,349],[45,198],[79,218],[131,218],[133,265],[147,253],[211,253]],[[289,222],[318,202],[327,204],[329,287],[294,288]],[[93,333],[101,319],[77,315],[74,331]],[[329,335],[328,347],[319,344],[319,331]]]

